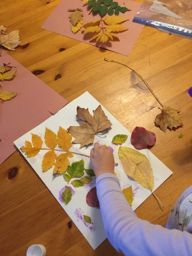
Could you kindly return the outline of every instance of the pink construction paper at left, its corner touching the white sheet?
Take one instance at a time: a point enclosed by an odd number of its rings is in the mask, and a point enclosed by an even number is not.
[[[19,62],[2,51],[0,66],[9,63],[17,70],[13,80],[4,81],[2,91],[16,92],[12,100],[0,99],[0,164],[17,148],[14,141],[30,131],[68,101],[42,82]],[[0,82],[2,84],[2,82]]]

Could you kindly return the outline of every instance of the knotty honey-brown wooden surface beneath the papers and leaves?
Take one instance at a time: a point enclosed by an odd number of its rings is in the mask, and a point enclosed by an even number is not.
[[[41,29],[59,2],[4,1],[0,23],[8,31],[19,28],[22,39],[16,51],[7,52],[69,102],[89,91],[130,132],[143,126],[156,134],[150,150],[173,171],[156,190],[165,208],[151,195],[135,213],[165,227],[176,199],[192,184],[192,98],[187,93],[192,86],[192,41],[144,27],[126,57]],[[183,128],[164,133],[156,127],[159,103],[133,72],[104,57],[135,69],[161,102],[180,109]],[[179,139],[180,131],[184,137]],[[18,150],[0,170],[1,256],[26,255],[35,243],[46,247],[47,256],[121,255],[107,239],[96,250],[91,248]]]

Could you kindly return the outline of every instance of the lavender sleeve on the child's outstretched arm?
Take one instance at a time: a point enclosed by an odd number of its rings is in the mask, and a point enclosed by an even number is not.
[[[101,174],[96,187],[106,235],[118,252],[129,256],[192,255],[192,234],[137,218],[114,174]]]

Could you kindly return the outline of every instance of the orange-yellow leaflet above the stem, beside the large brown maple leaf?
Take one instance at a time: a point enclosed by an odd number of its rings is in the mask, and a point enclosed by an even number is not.
[[[59,147],[62,150],[69,150],[69,148],[73,145],[71,140],[72,140],[71,134],[69,134],[67,130],[59,126],[59,131],[57,133],[57,141],[58,141]]]

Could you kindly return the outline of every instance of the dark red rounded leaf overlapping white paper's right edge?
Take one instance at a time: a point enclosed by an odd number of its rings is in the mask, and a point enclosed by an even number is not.
[[[131,143],[135,148],[144,149],[154,145],[156,142],[155,133],[147,131],[143,127],[135,127],[131,134]]]

